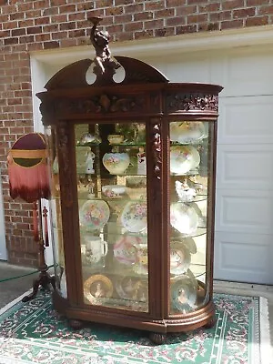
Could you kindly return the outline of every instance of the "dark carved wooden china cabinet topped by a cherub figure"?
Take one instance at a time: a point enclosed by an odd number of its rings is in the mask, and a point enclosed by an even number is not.
[[[51,173],[53,302],[73,327],[143,329],[161,343],[167,332],[214,323],[222,87],[170,83],[139,60],[112,58],[92,21],[96,58],[66,66],[37,95]]]

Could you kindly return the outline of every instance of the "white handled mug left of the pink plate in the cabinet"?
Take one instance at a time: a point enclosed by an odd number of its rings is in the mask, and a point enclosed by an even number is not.
[[[108,244],[99,237],[87,235],[86,241],[86,260],[90,263],[98,263],[101,258],[106,257]]]

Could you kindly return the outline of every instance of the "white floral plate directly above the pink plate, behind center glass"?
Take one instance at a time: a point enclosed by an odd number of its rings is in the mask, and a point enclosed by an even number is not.
[[[147,203],[130,201],[126,203],[120,217],[121,223],[132,233],[139,233],[147,228]]]

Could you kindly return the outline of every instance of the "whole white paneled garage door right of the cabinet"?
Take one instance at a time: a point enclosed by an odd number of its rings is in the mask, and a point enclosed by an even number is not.
[[[145,60],[170,81],[225,87],[218,120],[215,278],[273,284],[273,49]]]

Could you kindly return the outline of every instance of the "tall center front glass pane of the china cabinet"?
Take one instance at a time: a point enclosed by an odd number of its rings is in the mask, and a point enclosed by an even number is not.
[[[145,124],[75,126],[86,305],[148,310]]]

